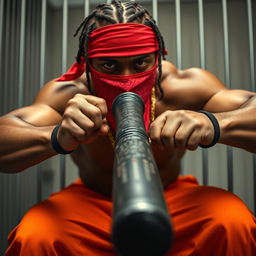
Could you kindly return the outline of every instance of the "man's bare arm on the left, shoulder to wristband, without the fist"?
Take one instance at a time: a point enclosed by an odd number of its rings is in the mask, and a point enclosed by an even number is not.
[[[56,154],[50,143],[52,129],[61,121],[67,100],[77,92],[72,84],[51,81],[32,105],[0,118],[1,172],[19,172]]]

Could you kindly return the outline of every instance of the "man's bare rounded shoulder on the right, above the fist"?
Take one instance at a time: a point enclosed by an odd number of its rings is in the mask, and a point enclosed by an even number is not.
[[[162,73],[163,102],[173,108],[201,109],[217,92],[228,90],[215,75],[200,68],[180,70],[163,61]]]

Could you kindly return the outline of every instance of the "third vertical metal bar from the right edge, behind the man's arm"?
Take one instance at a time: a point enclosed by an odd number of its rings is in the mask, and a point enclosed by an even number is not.
[[[199,16],[199,45],[200,45],[200,66],[205,69],[205,34],[204,34],[204,6],[203,0],[198,0]],[[203,185],[208,185],[208,150],[202,149]]]

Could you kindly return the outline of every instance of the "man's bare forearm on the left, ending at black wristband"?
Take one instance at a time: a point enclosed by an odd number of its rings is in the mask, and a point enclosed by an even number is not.
[[[18,118],[0,118],[0,172],[15,173],[55,155],[53,126],[36,127]]]

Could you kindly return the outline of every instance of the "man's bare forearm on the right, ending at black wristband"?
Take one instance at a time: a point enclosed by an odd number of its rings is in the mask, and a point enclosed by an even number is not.
[[[220,143],[256,153],[256,97],[233,111],[215,113],[220,129]]]

